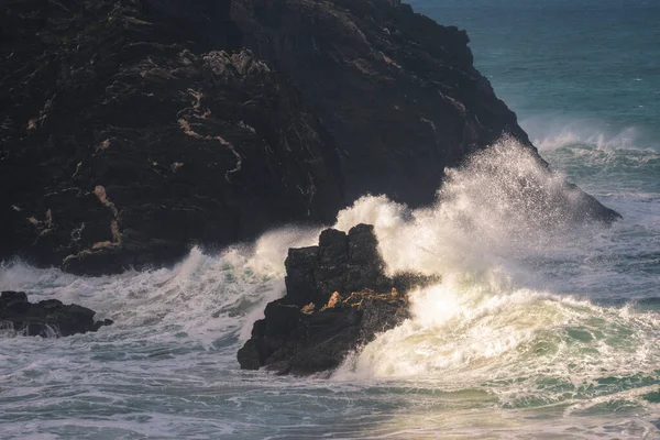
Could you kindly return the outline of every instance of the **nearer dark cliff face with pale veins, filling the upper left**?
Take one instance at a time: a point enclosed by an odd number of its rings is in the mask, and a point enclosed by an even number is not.
[[[333,220],[329,135],[229,1],[48,4],[0,9],[0,257],[100,275]]]

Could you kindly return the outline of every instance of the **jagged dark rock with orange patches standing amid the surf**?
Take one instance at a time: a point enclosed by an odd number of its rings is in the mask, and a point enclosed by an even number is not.
[[[323,231],[318,246],[290,249],[287,294],[268,304],[264,319],[254,323],[252,338],[238,353],[241,367],[326,372],[408,318],[406,293],[438,278],[387,277],[377,245],[373,227],[359,224],[348,234]]]

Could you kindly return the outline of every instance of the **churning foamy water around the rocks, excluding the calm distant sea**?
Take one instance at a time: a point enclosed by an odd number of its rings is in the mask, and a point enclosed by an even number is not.
[[[569,143],[543,154],[562,169],[579,155],[583,173],[660,172],[652,150]],[[173,270],[111,277],[6,264],[1,289],[81,304],[116,323],[57,340],[6,331],[1,436],[657,436],[660,190],[631,199],[626,182],[620,193],[602,187],[624,220],[576,227],[547,204],[566,190],[564,176],[503,140],[449,170],[432,207],[358,200],[336,228],[374,224],[391,273],[441,282],[411,293],[413,318],[329,381],[241,372],[235,361],[265,304],[284,294],[287,250],[314,244],[320,229],[272,231],[219,255],[194,249]]]

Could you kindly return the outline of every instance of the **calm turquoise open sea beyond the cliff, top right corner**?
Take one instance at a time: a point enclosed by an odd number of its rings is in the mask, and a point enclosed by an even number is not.
[[[542,134],[583,123],[608,135],[660,132],[660,3],[652,0],[417,0],[416,10],[468,30],[476,67]],[[537,127],[525,127],[534,134]],[[640,145],[638,145],[640,146]]]

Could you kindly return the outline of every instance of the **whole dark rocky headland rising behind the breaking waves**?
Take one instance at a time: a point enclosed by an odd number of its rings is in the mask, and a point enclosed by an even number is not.
[[[166,264],[534,148],[465,33],[395,0],[12,0],[0,30],[0,257]]]

